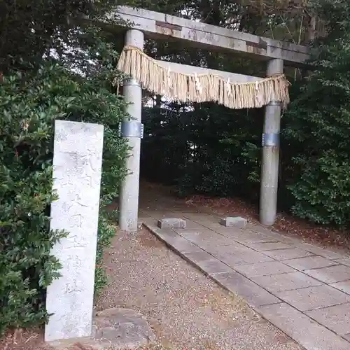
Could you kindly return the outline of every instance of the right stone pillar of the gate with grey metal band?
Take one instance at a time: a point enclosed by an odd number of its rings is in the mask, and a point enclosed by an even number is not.
[[[267,76],[277,73],[283,73],[283,59],[271,59],[267,63]],[[262,134],[260,178],[260,223],[262,225],[273,225],[276,220],[280,129],[281,104],[272,100],[265,107]]]

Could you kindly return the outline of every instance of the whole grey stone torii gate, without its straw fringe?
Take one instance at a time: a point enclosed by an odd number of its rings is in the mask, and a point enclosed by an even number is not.
[[[144,49],[144,38],[172,39],[183,41],[197,48],[209,48],[230,53],[244,54],[267,62],[267,77],[283,73],[283,64],[302,66],[309,58],[309,49],[302,45],[276,41],[252,34],[207,25],[150,10],[118,8],[120,18],[132,23],[127,25],[125,47]],[[129,22],[130,21],[130,22]],[[172,62],[156,61],[172,72],[203,74],[209,73],[232,82],[258,82],[262,78],[237,73],[214,71]],[[120,134],[132,147],[127,159],[131,171],[123,181],[119,200],[119,225],[122,230],[136,231],[139,210],[140,148],[143,125],[141,124],[141,85],[134,78],[124,83],[125,101],[130,103],[127,112],[134,118],[125,120]],[[279,173],[279,132],[281,121],[281,100],[269,99],[265,103],[265,120],[262,130],[262,166],[260,181],[260,223],[272,225],[276,220],[277,186]]]

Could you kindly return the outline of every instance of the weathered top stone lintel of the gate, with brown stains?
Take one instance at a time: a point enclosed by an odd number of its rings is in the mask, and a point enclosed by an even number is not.
[[[114,18],[116,15],[123,20],[131,21],[134,24],[132,27],[144,31],[148,38],[165,40],[174,38],[199,48],[237,52],[261,59],[283,59],[286,65],[300,64],[309,58],[309,49],[302,45],[263,38],[164,13],[120,6],[116,13],[111,13],[109,17]]]

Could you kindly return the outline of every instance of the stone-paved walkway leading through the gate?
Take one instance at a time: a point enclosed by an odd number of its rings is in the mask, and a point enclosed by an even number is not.
[[[186,229],[160,230],[160,218]],[[210,214],[142,209],[140,221],[307,350],[350,350],[350,257],[260,225],[225,228]]]

